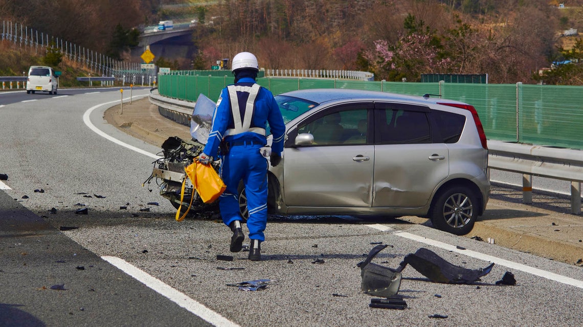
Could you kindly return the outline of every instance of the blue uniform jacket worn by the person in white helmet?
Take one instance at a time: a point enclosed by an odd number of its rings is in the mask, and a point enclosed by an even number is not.
[[[238,122],[245,120],[245,112],[248,107],[247,102],[251,94],[249,90],[254,84],[256,84],[255,80],[251,77],[243,77],[234,84],[234,87],[236,87],[234,89],[237,90],[236,101],[240,113]],[[236,129],[236,123],[231,110],[231,101],[234,101],[234,98],[229,94],[229,87],[223,88],[217,100],[212,127],[210,128],[209,138],[205,145],[204,152],[206,155],[216,158],[219,144],[223,138],[227,143],[234,141],[258,141],[259,143],[266,144],[266,123],[269,123],[269,129],[273,135],[271,151],[272,153],[281,155],[286,131],[282,112],[275,98],[273,98],[271,91],[264,87],[259,87],[259,85],[255,86],[255,88],[259,88],[259,90],[254,102],[252,102],[253,112],[251,122],[248,125],[249,128],[243,130]]]

